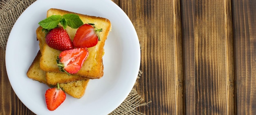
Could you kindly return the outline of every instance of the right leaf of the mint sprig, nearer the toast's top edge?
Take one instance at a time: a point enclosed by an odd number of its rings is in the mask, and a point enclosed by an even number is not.
[[[76,14],[65,14],[62,16],[67,21],[67,26],[71,28],[79,28],[83,25],[82,20],[79,18],[79,15]]]

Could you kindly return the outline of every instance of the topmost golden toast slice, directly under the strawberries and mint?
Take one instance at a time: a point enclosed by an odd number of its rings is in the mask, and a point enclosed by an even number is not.
[[[70,11],[64,11],[61,9],[49,9],[47,11],[47,17],[51,15],[65,15],[67,13],[73,13]],[[79,13],[74,13],[79,15],[80,19],[84,24],[93,23],[97,28],[102,28],[103,31],[100,33],[101,40],[97,43],[96,46],[88,48],[89,56],[83,63],[80,71],[74,75],[85,76],[88,78],[101,78],[103,76],[103,60],[102,56],[104,54],[104,45],[107,39],[108,33],[111,30],[111,23],[108,19],[102,17],[95,17],[89,15],[83,15]],[[61,25],[60,25],[61,26]],[[56,58],[61,53],[59,50],[50,48],[45,43],[45,33],[40,32],[41,27],[38,27],[36,34],[39,39],[39,46],[42,53],[40,58],[40,68],[45,72],[60,72],[56,64]],[[71,40],[74,39],[77,29],[70,27],[66,28],[67,33],[70,35]]]

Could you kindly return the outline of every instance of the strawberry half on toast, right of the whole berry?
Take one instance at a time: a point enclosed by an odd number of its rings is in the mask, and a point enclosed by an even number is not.
[[[98,29],[94,24],[83,24],[80,26],[73,40],[74,47],[83,48],[83,47],[93,47],[100,40],[99,33],[102,29]]]

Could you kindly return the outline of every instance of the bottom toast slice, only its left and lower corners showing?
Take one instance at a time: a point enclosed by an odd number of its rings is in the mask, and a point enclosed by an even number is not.
[[[39,82],[43,82],[46,85],[50,86],[46,81],[46,74],[45,72],[40,69],[39,62],[40,62],[41,53],[38,51],[34,61],[32,62],[31,66],[27,71],[27,76],[33,80],[37,80]],[[65,92],[71,95],[74,98],[81,98],[84,93],[85,89],[88,85],[89,80],[76,80],[67,83],[60,83],[60,87],[65,89]]]

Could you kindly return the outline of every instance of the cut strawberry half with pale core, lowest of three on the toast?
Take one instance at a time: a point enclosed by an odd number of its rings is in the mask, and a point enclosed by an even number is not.
[[[88,55],[87,48],[75,48],[61,52],[60,56],[57,57],[59,70],[67,74],[77,73]]]

